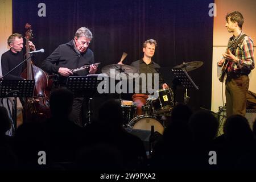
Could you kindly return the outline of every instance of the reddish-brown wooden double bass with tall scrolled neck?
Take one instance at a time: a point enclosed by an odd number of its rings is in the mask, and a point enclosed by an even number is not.
[[[32,39],[31,25],[26,24],[26,58],[30,56],[29,41]],[[52,81],[48,80],[47,73],[36,67],[32,59],[28,59],[26,68],[21,74],[26,80],[35,80],[34,94],[32,98],[27,98],[24,105],[24,121],[44,121],[50,117],[49,94]]]

